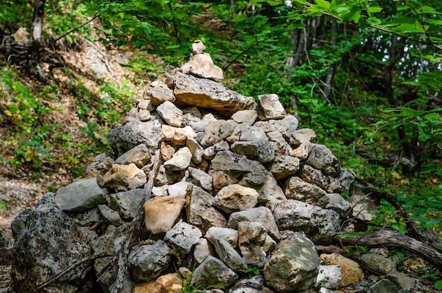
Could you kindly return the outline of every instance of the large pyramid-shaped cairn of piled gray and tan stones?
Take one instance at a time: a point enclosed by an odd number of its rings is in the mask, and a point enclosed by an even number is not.
[[[16,217],[13,292],[78,292],[88,280],[111,292],[119,265],[129,268],[121,292],[137,293],[181,292],[186,278],[217,288],[205,292],[299,292],[320,268],[321,280],[342,274],[320,266],[315,244],[338,231],[354,173],[277,95],[256,103],[217,83],[222,70],[203,49],[196,41],[181,71],[149,85],[110,133],[114,153]],[[141,232],[119,263],[143,201]]]

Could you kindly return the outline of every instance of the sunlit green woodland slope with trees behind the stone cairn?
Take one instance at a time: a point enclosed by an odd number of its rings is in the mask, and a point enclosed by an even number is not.
[[[279,95],[376,193],[370,229],[441,237],[441,1],[0,2],[3,180],[54,191],[80,176],[143,87],[202,40],[227,88]],[[85,46],[131,61],[97,76],[74,54]],[[17,204],[1,198],[0,214]]]

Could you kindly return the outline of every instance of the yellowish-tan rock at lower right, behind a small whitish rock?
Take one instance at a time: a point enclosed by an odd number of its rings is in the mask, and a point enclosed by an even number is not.
[[[342,287],[364,279],[364,274],[356,261],[341,256],[339,253],[321,254],[321,261],[327,265],[340,265],[342,268]]]

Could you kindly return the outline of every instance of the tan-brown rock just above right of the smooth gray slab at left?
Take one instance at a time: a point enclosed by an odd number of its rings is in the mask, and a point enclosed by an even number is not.
[[[114,191],[129,191],[143,187],[148,181],[143,170],[138,169],[135,164],[119,165],[114,164],[112,168],[104,174],[104,186]]]

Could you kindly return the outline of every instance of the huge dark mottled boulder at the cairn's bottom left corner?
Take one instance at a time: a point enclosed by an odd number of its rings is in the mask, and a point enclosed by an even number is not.
[[[11,270],[14,292],[35,292],[37,284],[92,252],[85,234],[57,207],[54,193],[46,193],[35,210],[23,218],[22,225],[15,228]],[[52,292],[77,292],[89,271],[90,263],[83,263],[52,282],[49,288]]]

